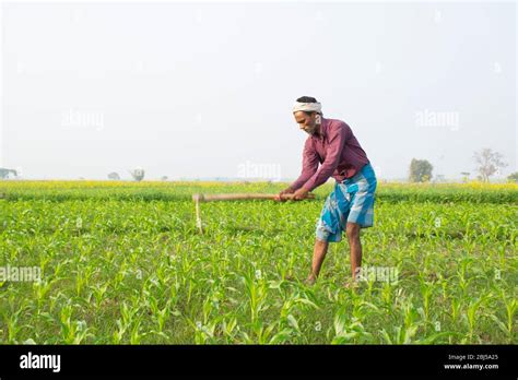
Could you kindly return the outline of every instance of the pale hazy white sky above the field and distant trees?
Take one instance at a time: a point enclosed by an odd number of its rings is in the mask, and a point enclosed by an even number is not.
[[[378,178],[517,171],[514,2],[2,2],[0,167],[294,179],[314,96]]]

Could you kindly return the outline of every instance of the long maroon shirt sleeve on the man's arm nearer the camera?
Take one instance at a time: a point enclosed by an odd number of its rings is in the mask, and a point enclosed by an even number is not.
[[[303,187],[311,191],[331,177],[340,164],[343,146],[349,136],[349,127],[345,123],[338,123],[329,129],[329,145],[326,152],[326,159],[320,168],[307,180]]]

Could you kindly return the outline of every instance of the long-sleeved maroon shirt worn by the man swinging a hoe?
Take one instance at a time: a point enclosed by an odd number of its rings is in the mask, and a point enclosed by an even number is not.
[[[290,188],[314,190],[333,177],[337,181],[354,177],[369,163],[351,127],[344,121],[321,118],[319,135],[304,144],[303,170]],[[321,164],[318,168],[318,164]],[[318,168],[318,170],[317,170]]]

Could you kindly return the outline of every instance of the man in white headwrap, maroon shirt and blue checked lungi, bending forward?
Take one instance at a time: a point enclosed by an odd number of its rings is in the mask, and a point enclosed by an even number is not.
[[[304,145],[303,170],[275,200],[282,201],[282,195],[289,193],[294,200],[303,200],[330,176],[335,179],[334,190],[317,223],[311,272],[306,282],[310,285],[316,282],[329,242],[340,241],[345,230],[351,249],[351,284],[355,284],[362,266],[360,229],[374,224],[377,185],[374,169],[351,128],[341,120],[325,119],[317,99],[298,98],[293,115],[299,128],[309,134]]]

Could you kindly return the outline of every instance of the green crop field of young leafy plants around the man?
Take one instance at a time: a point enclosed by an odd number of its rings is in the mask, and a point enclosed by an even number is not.
[[[202,203],[198,231],[192,193],[283,187],[1,181],[0,343],[518,343],[517,185],[379,183],[363,265],[396,276],[357,289],[346,239],[304,284],[330,185]]]

